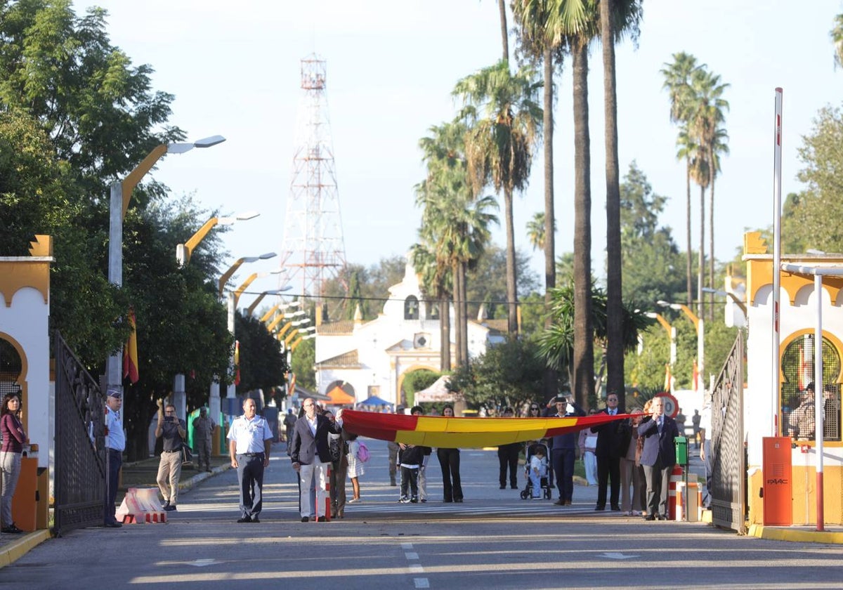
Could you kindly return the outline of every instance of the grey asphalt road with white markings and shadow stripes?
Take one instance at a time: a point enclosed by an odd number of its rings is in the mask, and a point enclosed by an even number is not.
[[[386,445],[368,442],[362,502],[346,518],[300,523],[298,485],[281,448],[258,524],[238,524],[236,474],[180,496],[167,524],[90,528],[40,544],[0,571],[0,587],[97,588],[824,588],[843,586],[836,545],[738,537],[702,523],[645,523],[499,490],[497,453],[462,452],[463,504],[397,503]],[[519,476],[523,488],[524,478]],[[350,490],[351,484],[348,484]],[[556,499],[556,493],[554,493]]]

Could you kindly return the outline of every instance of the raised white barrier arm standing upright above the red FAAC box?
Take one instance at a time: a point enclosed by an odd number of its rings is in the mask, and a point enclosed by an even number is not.
[[[773,305],[772,305],[772,436],[779,435],[779,291],[781,289],[781,88],[776,88],[776,119],[773,127]],[[747,302],[749,303],[749,302]]]

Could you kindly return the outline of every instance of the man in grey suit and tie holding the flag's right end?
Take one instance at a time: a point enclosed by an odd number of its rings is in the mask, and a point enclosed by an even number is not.
[[[651,416],[638,426],[638,436],[644,437],[641,464],[647,478],[647,520],[668,519],[668,485],[676,463],[676,443],[679,436],[676,422],[664,416],[662,398],[652,399]]]

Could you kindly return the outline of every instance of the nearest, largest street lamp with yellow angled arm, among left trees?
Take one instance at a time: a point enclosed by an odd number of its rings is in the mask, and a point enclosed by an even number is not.
[[[135,169],[126,175],[122,181],[111,183],[109,202],[109,246],[108,246],[108,280],[112,285],[123,285],[123,218],[129,208],[132,190],[141,181],[144,174],[168,153],[185,153],[193,148],[210,148],[225,141],[225,137],[215,135],[205,137],[193,143],[162,143],[154,148],[146,158],[143,158]],[[123,390],[121,378],[122,351],[108,357],[105,363],[105,383],[107,388]]]

